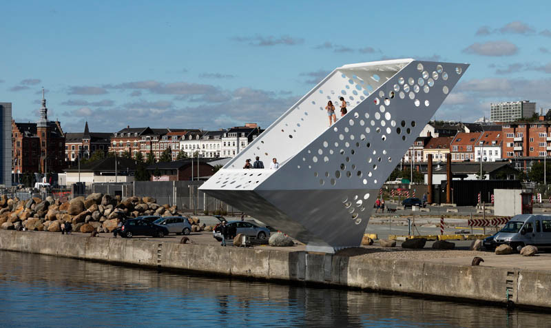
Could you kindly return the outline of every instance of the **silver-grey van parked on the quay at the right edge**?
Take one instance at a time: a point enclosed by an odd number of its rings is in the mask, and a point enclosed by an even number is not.
[[[484,247],[487,249],[503,244],[510,245],[517,252],[520,252],[525,245],[551,247],[551,216],[543,214],[513,216],[497,234],[484,240]]]

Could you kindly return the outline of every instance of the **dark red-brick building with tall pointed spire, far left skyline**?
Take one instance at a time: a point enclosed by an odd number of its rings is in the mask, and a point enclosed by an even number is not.
[[[46,173],[65,169],[65,135],[59,121],[48,121],[48,108],[42,94],[37,123],[12,121],[12,172]]]

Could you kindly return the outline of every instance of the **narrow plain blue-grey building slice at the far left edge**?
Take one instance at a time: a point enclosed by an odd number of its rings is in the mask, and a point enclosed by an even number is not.
[[[12,186],[12,103],[0,103],[0,185]]]

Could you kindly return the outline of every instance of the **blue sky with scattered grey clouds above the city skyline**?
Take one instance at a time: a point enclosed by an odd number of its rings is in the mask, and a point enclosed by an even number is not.
[[[0,5],[0,101],[17,121],[37,120],[43,86],[65,132],[267,127],[333,68],[404,57],[471,64],[437,119],[551,108],[547,1],[92,2]]]

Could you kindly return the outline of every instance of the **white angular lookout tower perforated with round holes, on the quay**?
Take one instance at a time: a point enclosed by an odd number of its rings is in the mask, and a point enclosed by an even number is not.
[[[467,68],[414,59],[337,68],[200,190],[307,250],[357,247],[380,187]],[[339,118],[331,127],[329,100]],[[256,156],[266,167],[275,157],[280,168],[243,170]]]

